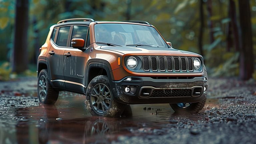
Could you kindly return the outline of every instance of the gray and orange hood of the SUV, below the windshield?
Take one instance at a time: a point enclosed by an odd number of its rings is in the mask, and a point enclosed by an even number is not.
[[[123,53],[125,55],[165,55],[165,56],[200,56],[197,53],[177,50],[174,48],[160,48],[160,47],[131,47],[131,46],[101,46],[101,49],[112,50]]]

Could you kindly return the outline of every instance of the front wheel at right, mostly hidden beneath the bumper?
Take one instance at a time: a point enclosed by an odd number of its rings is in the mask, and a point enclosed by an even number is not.
[[[198,113],[205,105],[206,99],[196,103],[174,103],[170,106],[177,113]]]

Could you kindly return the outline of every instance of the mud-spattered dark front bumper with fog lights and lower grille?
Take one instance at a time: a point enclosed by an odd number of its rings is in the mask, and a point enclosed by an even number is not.
[[[126,80],[127,78],[131,80]],[[110,82],[110,85],[115,100],[125,104],[199,102],[206,98],[208,87],[206,77],[190,79],[125,77],[120,81]],[[125,92],[126,87],[129,87],[129,92]]]

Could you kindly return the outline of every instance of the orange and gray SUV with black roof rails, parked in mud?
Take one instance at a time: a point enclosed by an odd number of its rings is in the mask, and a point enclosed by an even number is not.
[[[61,20],[40,48],[37,71],[41,103],[54,104],[59,91],[84,94],[86,108],[98,116],[156,103],[197,113],[207,96],[202,56],[172,48],[144,21]]]

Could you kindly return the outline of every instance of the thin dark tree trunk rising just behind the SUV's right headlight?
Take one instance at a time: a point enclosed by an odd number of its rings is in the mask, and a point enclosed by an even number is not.
[[[203,55],[203,29],[204,29],[204,10],[203,10],[203,0],[199,2],[199,15],[200,15],[200,30],[198,36],[198,47],[200,54]]]

